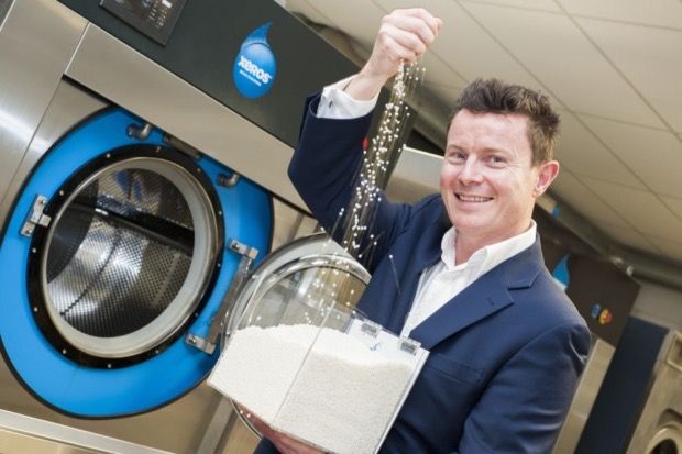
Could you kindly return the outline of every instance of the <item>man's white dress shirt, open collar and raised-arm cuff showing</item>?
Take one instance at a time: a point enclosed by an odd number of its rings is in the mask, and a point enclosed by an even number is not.
[[[351,76],[352,77],[352,76]],[[359,101],[343,91],[350,78],[324,87],[318,107],[317,115],[328,119],[353,119],[363,117],[376,106],[378,93],[369,101]],[[454,242],[457,239],[455,228],[450,228],[441,241],[440,261],[426,268],[419,277],[419,285],[413,307],[407,314],[407,320],[400,335],[409,336],[409,333],[421,322],[432,315],[446,302],[454,298],[470,284],[493,269],[495,266],[530,247],[536,241],[537,225],[530,221],[530,226],[524,233],[484,246],[465,263],[455,266]]]

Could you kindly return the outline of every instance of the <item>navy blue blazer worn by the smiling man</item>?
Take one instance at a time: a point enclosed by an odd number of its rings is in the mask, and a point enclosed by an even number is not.
[[[289,177],[328,231],[346,207],[370,115],[319,119],[308,100]],[[360,301],[399,333],[421,272],[441,256],[451,226],[439,195],[416,204],[377,203],[378,243]],[[341,232],[339,232],[341,233]],[[382,453],[548,453],[584,368],[591,335],[547,270],[539,237],[413,330],[430,351]],[[256,453],[276,450],[264,441]]]

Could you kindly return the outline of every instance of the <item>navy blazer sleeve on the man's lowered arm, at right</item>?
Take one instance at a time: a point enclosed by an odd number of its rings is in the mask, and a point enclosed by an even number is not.
[[[493,376],[464,423],[459,452],[550,453],[590,350],[584,324],[543,332]]]

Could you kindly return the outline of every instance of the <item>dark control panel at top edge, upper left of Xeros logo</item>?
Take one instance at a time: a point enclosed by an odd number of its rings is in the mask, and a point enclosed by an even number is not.
[[[101,0],[100,5],[146,36],[165,45],[186,0]]]

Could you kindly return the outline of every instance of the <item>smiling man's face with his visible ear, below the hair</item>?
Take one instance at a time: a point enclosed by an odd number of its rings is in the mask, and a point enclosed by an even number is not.
[[[528,118],[460,111],[448,131],[440,189],[458,241],[479,247],[526,231],[536,198],[559,170],[531,166]]]

